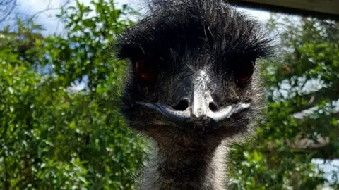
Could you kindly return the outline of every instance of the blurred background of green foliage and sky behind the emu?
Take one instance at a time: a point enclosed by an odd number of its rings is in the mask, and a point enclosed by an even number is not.
[[[266,119],[234,144],[233,189],[339,189],[339,23],[237,8],[276,34]],[[107,51],[143,17],[127,0],[0,0],[0,189],[135,189],[150,151],[114,101]]]

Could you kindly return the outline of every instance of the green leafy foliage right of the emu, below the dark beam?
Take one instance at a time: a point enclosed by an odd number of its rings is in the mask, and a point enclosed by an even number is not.
[[[234,146],[232,184],[236,189],[337,189],[336,174],[328,181],[311,160],[339,156],[339,25],[273,15],[268,26],[280,30],[283,56],[265,63],[266,120],[248,146]]]

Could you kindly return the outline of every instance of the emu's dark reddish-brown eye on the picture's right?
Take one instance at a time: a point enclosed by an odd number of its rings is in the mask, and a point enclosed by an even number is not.
[[[244,62],[237,70],[234,72],[234,78],[237,84],[245,84],[251,80],[251,77],[254,72],[254,61]]]

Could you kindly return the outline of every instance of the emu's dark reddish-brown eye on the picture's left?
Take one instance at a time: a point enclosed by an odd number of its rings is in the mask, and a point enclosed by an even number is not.
[[[154,82],[157,76],[155,65],[145,58],[140,58],[133,64],[133,73],[143,82]]]

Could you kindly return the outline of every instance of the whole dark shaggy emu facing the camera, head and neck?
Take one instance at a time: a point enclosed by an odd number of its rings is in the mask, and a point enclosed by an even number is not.
[[[141,189],[226,189],[227,147],[253,134],[263,107],[258,60],[270,38],[218,0],[148,1],[114,43],[130,61],[127,125],[154,142]]]

